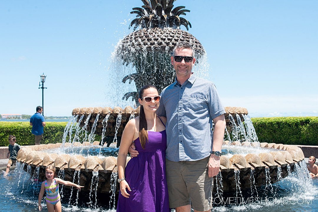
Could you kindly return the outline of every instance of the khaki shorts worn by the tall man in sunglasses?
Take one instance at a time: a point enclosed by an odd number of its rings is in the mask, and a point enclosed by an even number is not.
[[[166,159],[169,208],[185,205],[197,211],[212,208],[213,177],[208,176],[209,158],[179,162]]]

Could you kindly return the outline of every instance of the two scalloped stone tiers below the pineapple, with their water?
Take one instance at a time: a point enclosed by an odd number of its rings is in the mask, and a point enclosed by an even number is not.
[[[114,109],[76,108],[73,110],[73,118],[71,119],[74,123],[66,126],[67,130],[64,134],[72,136],[74,125],[77,125],[75,128],[83,126],[91,134],[104,132],[105,135],[102,135],[102,138],[103,136],[117,138],[118,146],[126,123],[130,118],[137,116],[138,112],[139,108],[132,109],[131,107],[126,107],[125,109],[119,107]],[[226,107],[227,132],[225,134],[228,134],[229,138],[232,137],[232,140],[233,138],[239,138],[239,140],[233,140],[233,142],[224,141],[223,143],[222,152],[225,155],[221,156],[220,159],[221,174],[214,178],[215,185],[218,185],[214,187],[216,192],[218,188],[222,188],[222,192],[227,190],[237,191],[238,188],[242,190],[250,189],[252,184],[255,187],[272,184],[285,178],[294,169],[295,165],[304,159],[303,152],[298,147],[275,143],[259,143],[254,141],[255,138],[254,140],[249,140],[250,137],[247,135],[252,134],[250,131],[253,130],[249,129],[250,126],[246,124],[251,122],[247,113],[245,108]],[[79,124],[76,121],[79,121]],[[78,128],[76,129],[77,131]],[[236,132],[231,136],[232,131]],[[87,136],[88,140],[91,139],[91,134]],[[115,139],[110,140],[114,141]],[[64,153],[48,153],[47,151],[47,149],[59,148],[57,152],[63,152],[63,149],[69,147],[87,146],[94,146],[100,149],[107,148],[97,146],[99,144],[99,141],[80,143],[74,138],[73,143],[65,142],[63,144],[25,147],[18,152],[17,161],[25,164],[25,170],[27,166],[30,166],[31,172],[34,172],[36,167],[39,167],[38,178],[40,180],[44,180],[44,168],[47,165],[54,164],[58,171],[64,173],[65,180],[79,180],[79,183],[85,186],[83,190],[90,190],[93,184],[93,176],[98,176],[98,182],[94,188],[95,192],[110,192],[114,190],[111,189],[110,184],[112,175],[117,173],[115,157],[108,156],[103,158],[89,155],[84,157],[82,155]],[[240,152],[238,154],[235,151],[233,152],[233,149],[248,150],[245,153]],[[128,157],[127,161],[129,159]],[[80,174],[76,175],[77,171],[80,171]],[[74,179],[75,177],[77,179]],[[253,179],[253,182],[251,179]]]

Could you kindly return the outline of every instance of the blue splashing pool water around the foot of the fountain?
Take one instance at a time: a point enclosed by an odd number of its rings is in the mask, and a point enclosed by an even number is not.
[[[212,211],[317,211],[318,179],[309,179],[308,172],[303,168],[304,166],[298,166],[295,172],[280,182],[258,188],[256,195],[249,191],[243,191],[241,195],[236,195],[235,192],[224,193],[221,197],[214,195]],[[32,180],[33,176],[26,173],[19,164],[16,169],[10,171],[10,175],[4,177],[3,173],[0,173],[0,211],[38,211],[41,182]],[[60,194],[62,211],[114,212],[113,206],[117,204],[116,201],[111,201],[114,198],[107,194],[97,194],[96,202],[94,193],[77,193],[76,189],[72,191],[62,186]],[[117,198],[115,195],[115,200]],[[44,211],[47,211],[44,201],[42,206]]]

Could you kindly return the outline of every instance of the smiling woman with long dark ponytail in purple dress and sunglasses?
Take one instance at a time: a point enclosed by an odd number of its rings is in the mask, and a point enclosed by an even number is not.
[[[140,116],[131,119],[123,131],[117,158],[118,212],[169,211],[165,173],[167,119],[156,116],[159,100],[154,85],[143,86],[138,99]],[[132,158],[125,168],[132,142],[135,142],[139,155]]]

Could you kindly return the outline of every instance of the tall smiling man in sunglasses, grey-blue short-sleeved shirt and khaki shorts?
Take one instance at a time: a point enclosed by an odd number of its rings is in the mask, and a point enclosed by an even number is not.
[[[188,43],[173,50],[176,81],[161,92],[158,116],[167,117],[166,177],[169,207],[176,212],[211,211],[213,176],[220,167],[225,109],[213,83],[197,78]],[[212,120],[214,131],[212,131]],[[137,156],[135,146],[129,148]],[[208,168],[207,168],[208,167]]]

